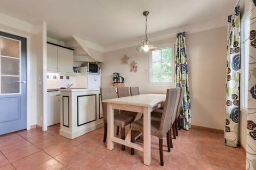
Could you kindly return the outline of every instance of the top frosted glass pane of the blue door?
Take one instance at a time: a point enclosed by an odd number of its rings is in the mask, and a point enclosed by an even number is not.
[[[0,37],[1,55],[20,57],[20,41]]]

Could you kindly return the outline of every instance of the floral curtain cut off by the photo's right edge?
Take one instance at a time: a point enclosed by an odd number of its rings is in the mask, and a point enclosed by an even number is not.
[[[252,3],[247,106],[246,169],[256,169],[256,1]]]

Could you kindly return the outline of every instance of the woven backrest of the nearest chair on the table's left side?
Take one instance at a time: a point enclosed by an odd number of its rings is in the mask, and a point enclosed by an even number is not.
[[[108,104],[102,102],[102,100],[114,99],[116,96],[116,88],[100,88],[100,98],[101,98],[101,106],[103,112],[103,122],[107,123],[108,117]],[[114,109],[114,114],[117,114],[119,111]]]

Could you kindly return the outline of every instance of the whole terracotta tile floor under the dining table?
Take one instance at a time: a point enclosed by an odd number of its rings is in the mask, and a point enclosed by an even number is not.
[[[102,142],[103,128],[74,140],[58,134],[60,125],[19,131],[0,136],[0,169],[245,169],[245,151],[223,144],[223,135],[190,129],[179,131],[173,149],[159,165],[158,138],[151,137],[151,164],[142,163],[143,153],[130,148],[109,151]],[[137,141],[141,143],[141,141]]]

